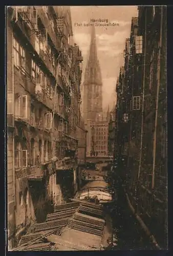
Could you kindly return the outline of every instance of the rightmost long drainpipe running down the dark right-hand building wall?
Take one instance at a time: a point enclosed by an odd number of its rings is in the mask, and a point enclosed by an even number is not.
[[[157,94],[156,94],[157,98],[156,98],[155,130],[154,130],[154,147],[153,147],[152,189],[154,189],[155,187],[156,143],[157,143],[159,91],[160,91],[160,55],[161,55],[161,47],[162,47],[162,25],[163,25],[163,7],[161,7],[160,41],[159,41],[158,63],[157,63]]]

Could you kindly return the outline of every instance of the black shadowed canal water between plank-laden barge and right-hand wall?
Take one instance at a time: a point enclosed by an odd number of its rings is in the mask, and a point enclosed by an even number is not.
[[[113,250],[152,250],[148,237],[132,215],[121,186],[117,188],[117,200],[109,207],[113,223],[115,246]]]

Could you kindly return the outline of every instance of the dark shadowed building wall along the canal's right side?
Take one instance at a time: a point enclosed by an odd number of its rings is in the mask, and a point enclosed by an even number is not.
[[[140,51],[136,36],[142,38]],[[124,65],[126,110],[122,103],[121,74],[117,84],[116,129],[117,141],[120,138],[117,153],[120,175],[124,175],[126,191],[136,214],[141,216],[160,247],[166,248],[166,7],[139,7],[139,17],[132,19],[130,42],[131,51],[128,53],[126,49]],[[137,96],[140,97],[138,109],[133,104]],[[124,111],[129,115],[125,124],[121,121]],[[122,174],[120,164],[125,134],[129,146],[127,162],[123,165],[126,172]]]

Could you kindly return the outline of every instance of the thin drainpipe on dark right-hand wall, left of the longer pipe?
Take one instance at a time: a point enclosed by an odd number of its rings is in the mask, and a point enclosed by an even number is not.
[[[146,13],[145,9],[145,38],[144,38],[144,71],[143,71],[143,91],[142,91],[142,120],[141,120],[141,145],[140,145],[140,157],[139,157],[139,169],[138,169],[138,182],[141,174],[141,161],[142,161],[142,145],[143,145],[143,121],[144,121],[144,99],[145,99],[145,63],[146,63]]]

